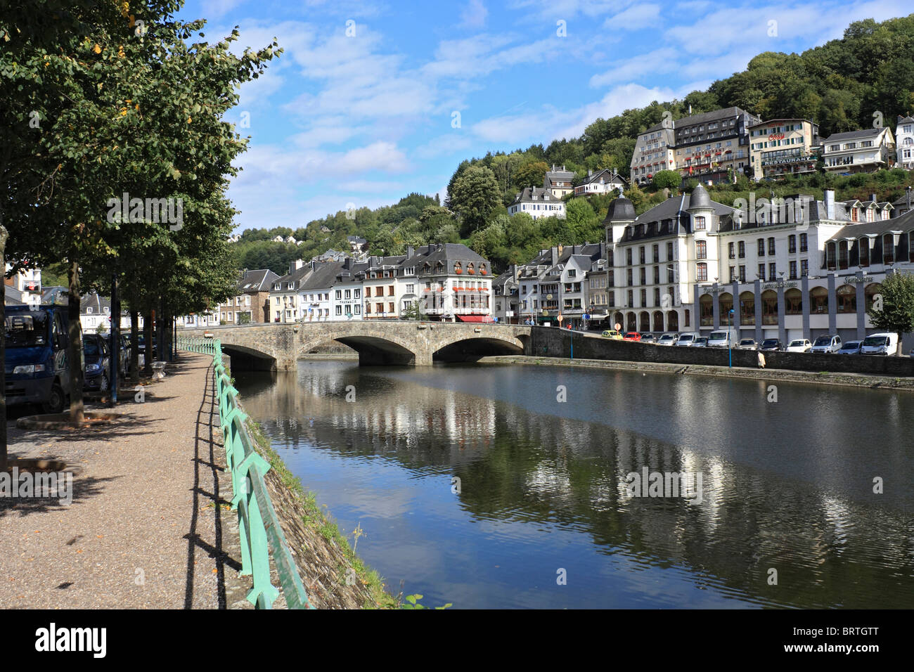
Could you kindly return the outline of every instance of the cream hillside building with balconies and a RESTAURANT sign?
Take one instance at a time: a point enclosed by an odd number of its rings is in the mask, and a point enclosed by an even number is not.
[[[822,140],[808,119],[771,119],[749,127],[749,152],[756,180],[815,172]]]

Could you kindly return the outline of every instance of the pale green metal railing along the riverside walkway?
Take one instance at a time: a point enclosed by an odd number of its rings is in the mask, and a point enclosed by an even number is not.
[[[254,586],[248,601],[258,609],[270,609],[279,591],[270,582],[270,549],[279,574],[282,593],[290,609],[314,609],[298,574],[292,553],[286,545],[282,527],[273,510],[263,475],[270,464],[253,449],[247,415],[241,411],[238,390],[232,387],[225,365],[222,363],[222,344],[218,338],[193,338],[178,336],[178,347],[213,357],[216,375],[216,399],[219,404],[219,423],[226,449],[226,464],[231,473],[231,507],[238,511],[238,528],[241,538],[241,576],[251,575]]]

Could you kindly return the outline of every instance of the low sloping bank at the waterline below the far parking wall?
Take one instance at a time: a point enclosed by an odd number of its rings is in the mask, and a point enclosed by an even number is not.
[[[664,364],[659,362],[630,362],[607,359],[567,359],[564,357],[530,357],[511,355],[483,357],[481,363],[526,364],[533,366],[611,368],[646,373],[675,373],[685,376],[715,376],[722,378],[784,380],[789,382],[813,383],[815,385],[840,385],[844,387],[869,389],[904,389],[914,391],[914,379],[888,378],[853,373],[830,373],[827,371],[791,371],[778,368],[728,368],[702,364]]]

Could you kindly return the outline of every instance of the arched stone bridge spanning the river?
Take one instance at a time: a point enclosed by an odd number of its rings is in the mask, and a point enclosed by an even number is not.
[[[213,326],[180,329],[178,336],[211,332],[238,370],[292,370],[315,348],[334,342],[358,353],[360,365],[428,366],[432,360],[472,361],[529,350],[531,327],[479,323],[347,321]]]

